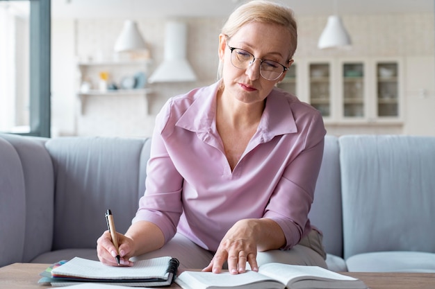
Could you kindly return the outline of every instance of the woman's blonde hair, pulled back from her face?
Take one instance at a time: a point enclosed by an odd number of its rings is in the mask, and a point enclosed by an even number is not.
[[[293,10],[287,6],[268,0],[249,1],[234,10],[222,27],[221,33],[231,38],[249,22],[264,22],[284,26],[290,33],[288,61],[293,58],[297,48],[297,23]],[[222,62],[219,63],[217,78],[222,76]]]

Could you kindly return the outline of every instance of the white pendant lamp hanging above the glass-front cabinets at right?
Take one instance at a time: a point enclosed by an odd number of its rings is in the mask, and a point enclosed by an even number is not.
[[[337,1],[335,4],[337,6]],[[337,8],[336,8],[337,10]],[[343,21],[337,15],[331,15],[328,17],[327,26],[320,35],[318,48],[319,49],[334,49],[334,48],[350,48],[352,40],[347,33]]]

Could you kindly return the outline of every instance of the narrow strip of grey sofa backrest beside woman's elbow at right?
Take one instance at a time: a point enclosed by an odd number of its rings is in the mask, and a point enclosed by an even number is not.
[[[322,231],[327,253],[343,256],[339,151],[338,138],[327,135],[309,218]]]

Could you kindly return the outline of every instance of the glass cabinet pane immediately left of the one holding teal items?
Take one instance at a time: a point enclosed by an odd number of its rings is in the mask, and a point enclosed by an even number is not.
[[[322,116],[331,116],[331,73],[329,63],[309,65],[310,103]]]

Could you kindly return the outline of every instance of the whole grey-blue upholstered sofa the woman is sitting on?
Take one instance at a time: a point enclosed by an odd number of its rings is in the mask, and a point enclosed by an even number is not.
[[[0,266],[97,259],[112,209],[124,232],[151,139],[0,134]],[[435,272],[435,137],[327,136],[310,212],[331,270]]]

